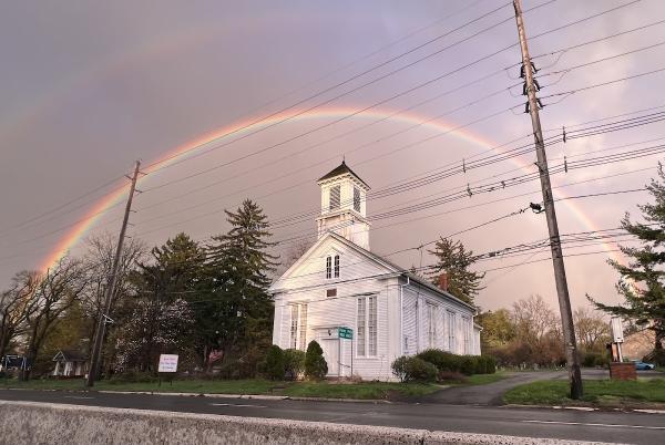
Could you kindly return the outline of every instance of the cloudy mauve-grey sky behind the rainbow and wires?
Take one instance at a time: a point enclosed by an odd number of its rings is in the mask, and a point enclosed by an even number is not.
[[[663,111],[665,72],[635,76],[665,68],[661,1],[524,0],[523,8],[542,75],[545,137]],[[250,198],[273,221],[311,213],[275,225],[286,257],[315,237],[316,179],[342,158],[380,192],[528,145],[512,15],[502,0],[8,2],[0,15],[0,289],[63,248],[81,255],[85,237],[117,234],[126,195],[109,196],[126,185],[136,159],[147,174],[130,236],[156,246],[184,231],[205,242],[228,229],[224,209]],[[612,116],[620,117],[598,121]],[[567,163],[663,144],[664,131],[653,122],[569,138],[548,146],[550,167],[564,156]],[[155,164],[178,149],[187,153]],[[642,188],[662,157],[656,149],[553,174],[554,197]],[[534,162],[533,152],[494,158],[370,199],[368,216],[480,184],[512,184],[533,174]],[[626,211],[638,218],[636,206],[648,199],[628,192],[561,200],[560,231],[618,227]],[[427,248],[391,253],[460,231],[453,238],[475,253],[531,244],[548,236],[544,214],[483,224],[541,200],[538,180],[529,180],[380,218],[371,250],[410,268],[432,263]],[[615,249],[564,249],[573,307],[586,304],[586,293],[621,301],[607,265],[622,259],[607,251]],[[477,303],[497,309],[540,293],[554,307],[546,258],[543,249],[479,261],[477,270],[488,271]]]

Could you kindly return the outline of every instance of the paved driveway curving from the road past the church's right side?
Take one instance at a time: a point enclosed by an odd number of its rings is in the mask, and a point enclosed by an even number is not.
[[[538,380],[567,379],[566,371],[534,371],[510,373],[508,379],[487,385],[452,386],[420,397],[422,403],[450,405],[502,405],[502,396],[508,390]]]

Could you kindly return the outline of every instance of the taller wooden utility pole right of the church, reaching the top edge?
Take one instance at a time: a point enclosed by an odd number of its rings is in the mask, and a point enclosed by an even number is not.
[[[522,18],[521,0],[513,0],[515,9],[515,21],[518,23],[518,35],[520,38],[520,48],[522,49],[522,76],[524,77],[524,91],[529,97],[526,111],[531,115],[533,126],[533,137],[535,141],[535,154],[538,158],[536,166],[540,170],[541,189],[543,193],[543,203],[545,206],[545,217],[548,218],[548,230],[550,232],[550,246],[552,249],[552,262],[554,266],[554,281],[556,282],[556,294],[559,297],[559,310],[561,312],[561,322],[563,324],[563,343],[565,349],[565,360],[571,384],[571,399],[582,397],[582,374],[580,372],[580,359],[577,356],[577,346],[575,342],[575,330],[573,328],[573,312],[567,290],[567,280],[565,278],[565,266],[563,263],[563,252],[561,250],[561,239],[559,237],[559,225],[556,222],[556,211],[554,210],[554,199],[552,199],[552,185],[550,184],[550,172],[548,169],[548,157],[545,155],[545,144],[543,143],[543,132],[539,115],[539,100],[535,96],[536,83],[533,79],[533,65],[529,55],[526,45],[526,32],[524,31],[524,20]]]

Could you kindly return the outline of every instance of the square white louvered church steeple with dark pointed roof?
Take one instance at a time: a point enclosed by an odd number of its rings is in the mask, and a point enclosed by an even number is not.
[[[324,175],[318,185],[321,188],[321,215],[316,219],[318,237],[334,231],[369,250],[367,183],[342,161],[338,167]]]

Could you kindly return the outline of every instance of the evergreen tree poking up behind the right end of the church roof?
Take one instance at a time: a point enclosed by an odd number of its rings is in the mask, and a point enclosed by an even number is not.
[[[431,276],[432,282],[438,286],[439,276],[444,272],[448,278],[448,291],[460,300],[473,304],[474,297],[484,289],[481,286],[484,273],[470,270],[475,262],[473,251],[467,251],[461,241],[441,238],[437,241],[434,250],[429,252],[437,257],[434,272]]]

